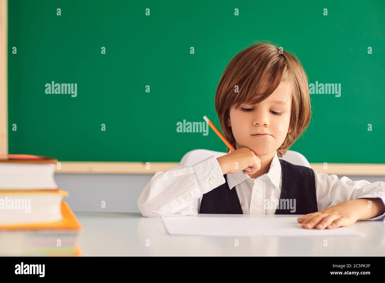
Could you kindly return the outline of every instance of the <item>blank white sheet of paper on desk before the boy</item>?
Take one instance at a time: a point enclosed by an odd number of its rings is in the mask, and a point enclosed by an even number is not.
[[[196,217],[163,216],[170,235],[199,236],[365,236],[346,227],[305,229],[297,217]]]

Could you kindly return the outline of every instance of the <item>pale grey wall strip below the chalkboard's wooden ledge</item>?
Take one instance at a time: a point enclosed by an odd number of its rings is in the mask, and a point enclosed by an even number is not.
[[[139,212],[136,201],[152,174],[55,174],[59,187],[69,192],[73,211]],[[338,176],[341,178],[342,176]],[[353,181],[385,181],[385,176],[348,176]],[[105,201],[105,208],[101,208]]]

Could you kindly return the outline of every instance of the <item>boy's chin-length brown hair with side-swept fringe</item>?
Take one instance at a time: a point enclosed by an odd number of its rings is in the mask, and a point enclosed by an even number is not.
[[[224,136],[235,148],[231,127],[227,126],[230,108],[243,103],[256,104],[271,95],[280,82],[290,82],[292,97],[291,132],[277,149],[282,157],[301,136],[310,122],[311,104],[308,79],[301,63],[272,44],[254,44],[239,52],[227,65],[215,93],[215,109]],[[238,85],[239,92],[235,92]],[[229,149],[228,149],[229,150]]]

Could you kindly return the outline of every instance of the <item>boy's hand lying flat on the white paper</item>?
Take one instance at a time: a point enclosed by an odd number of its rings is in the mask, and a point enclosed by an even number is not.
[[[357,220],[357,206],[354,201],[344,201],[330,208],[297,218],[298,223],[302,223],[301,227],[306,229],[346,227],[354,224]]]

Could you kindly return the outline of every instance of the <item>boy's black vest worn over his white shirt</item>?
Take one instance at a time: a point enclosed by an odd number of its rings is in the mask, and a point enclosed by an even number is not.
[[[286,209],[281,206],[275,214],[308,214],[318,211],[313,169],[279,160],[282,169],[280,204],[281,200],[295,199],[296,209],[291,213],[290,206],[286,206]],[[236,189],[230,190],[226,174],[223,176],[226,181],[224,184],[203,194],[199,213],[243,214]]]

